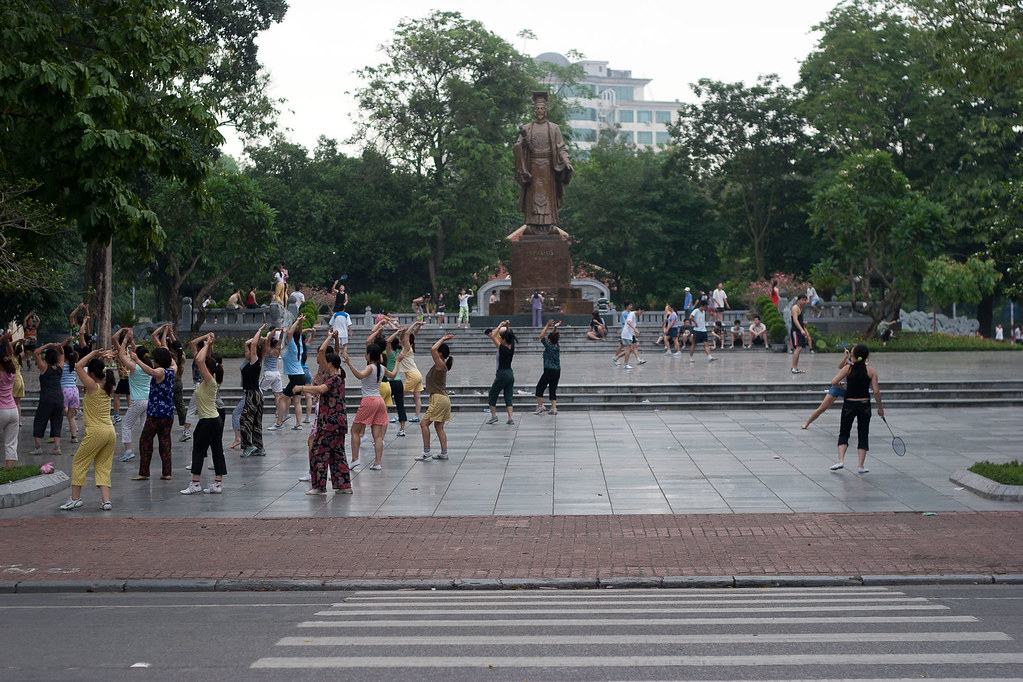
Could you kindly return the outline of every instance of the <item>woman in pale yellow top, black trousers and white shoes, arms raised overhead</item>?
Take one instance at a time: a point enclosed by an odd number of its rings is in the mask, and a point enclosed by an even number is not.
[[[188,487],[181,491],[182,495],[220,495],[224,492],[223,480],[227,473],[227,462],[224,459],[224,417],[217,409],[217,390],[224,381],[224,366],[219,362],[219,356],[213,352],[213,333],[203,337],[204,344],[195,356],[202,383],[195,389],[195,412],[198,422],[195,424],[195,435],[192,441],[192,480]],[[207,450],[213,458],[214,481],[209,488],[202,485],[203,463],[206,461]]]

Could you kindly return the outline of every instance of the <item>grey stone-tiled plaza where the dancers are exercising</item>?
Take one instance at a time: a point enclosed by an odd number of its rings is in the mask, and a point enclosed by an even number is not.
[[[789,373],[785,354],[725,352],[707,363],[698,356],[650,362],[626,371],[595,354],[567,355],[564,383],[622,381],[642,383],[793,382],[820,388],[835,372],[836,355],[803,358],[806,374]],[[882,377],[898,380],[936,378],[1018,378],[1023,354],[878,354],[873,366]],[[448,425],[447,461],[416,462],[421,450],[417,424],[399,438],[388,429],[384,470],[359,467],[355,494],[310,497],[299,476],[306,470],[308,425],[264,434],[267,456],[242,459],[229,451],[224,494],[183,496],[188,481],[190,443],[177,442],[174,480],[133,482],[137,459],[114,466],[114,510],[98,510],[98,495],[86,488],[86,505],[57,510],[63,497],[51,497],[0,511],[16,517],[283,517],[283,516],[449,516],[519,514],[679,514],[970,510],[1023,510],[1023,503],[996,502],[960,490],[948,481],[957,470],[981,459],[1018,457],[1021,408],[903,409],[889,421],[905,439],[908,454],[896,457],[880,420],[872,421],[871,471],[854,467],[829,470],[835,461],[840,409],[834,407],[808,430],[806,414],[786,410],[726,411],[642,410],[565,411],[535,416],[532,383],[539,358],[520,354],[516,423],[486,425],[480,412],[458,412]],[[225,383],[237,376],[229,362]],[[485,389],[493,358],[456,359],[451,385]],[[34,375],[30,374],[31,381]],[[522,395],[525,394],[525,395]],[[411,399],[406,403],[411,404]],[[230,407],[230,406],[229,406]],[[27,422],[28,423],[28,422]],[[268,420],[264,421],[264,424]],[[292,422],[287,422],[291,425]],[[23,431],[23,451],[31,446]],[[229,442],[230,429],[225,433]],[[56,458],[70,470],[71,444]],[[370,443],[364,453],[371,456]],[[434,439],[434,451],[439,448]],[[119,451],[120,454],[120,451]],[[850,453],[854,462],[855,455]],[[49,457],[28,461],[46,461]],[[365,455],[363,461],[366,461]],[[209,460],[208,460],[209,461]],[[159,472],[159,468],[157,469]],[[204,481],[213,476],[204,471]]]

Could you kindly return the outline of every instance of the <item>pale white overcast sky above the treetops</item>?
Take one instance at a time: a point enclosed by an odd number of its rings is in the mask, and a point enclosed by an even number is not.
[[[312,148],[326,135],[344,141],[354,131],[354,72],[383,61],[380,46],[404,17],[433,9],[478,19],[527,54],[571,49],[650,78],[648,99],[692,100],[700,78],[752,83],[775,73],[792,85],[799,61],[813,48],[811,28],[835,0],[593,0],[495,2],[493,0],[290,0],[282,24],[264,33],[260,59],[272,94],[284,97],[287,137]],[[523,29],[537,40],[523,44]],[[240,154],[230,132],[225,150]],[[348,149],[354,152],[354,149]]]

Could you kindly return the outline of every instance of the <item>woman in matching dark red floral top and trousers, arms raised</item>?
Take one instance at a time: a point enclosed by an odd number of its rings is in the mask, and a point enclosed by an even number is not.
[[[333,348],[331,348],[333,344]],[[330,333],[316,352],[317,376],[322,383],[297,387],[300,395],[314,395],[316,402],[315,435],[309,448],[310,489],[306,495],[326,495],[326,475],[336,495],[352,494],[352,474],[345,456],[348,412],[345,408],[345,370],[338,355],[338,332]]]

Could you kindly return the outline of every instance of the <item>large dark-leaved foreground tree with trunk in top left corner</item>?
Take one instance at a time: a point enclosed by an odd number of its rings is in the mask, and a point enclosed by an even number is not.
[[[89,245],[86,282],[109,334],[113,238],[163,238],[138,191],[143,174],[197,188],[222,138],[182,75],[206,52],[175,0],[0,0],[0,169],[33,183]]]

